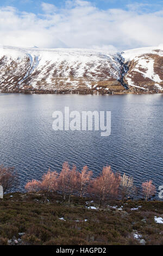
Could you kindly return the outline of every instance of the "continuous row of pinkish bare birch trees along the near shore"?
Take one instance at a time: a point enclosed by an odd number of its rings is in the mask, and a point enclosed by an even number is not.
[[[1,181],[1,180],[0,180]],[[62,165],[61,172],[51,172],[43,174],[41,180],[32,180],[27,182],[25,189],[28,192],[44,191],[58,192],[64,200],[68,196],[70,202],[72,196],[90,196],[97,199],[99,207],[102,208],[111,199],[127,199],[131,196],[143,196],[147,201],[155,196],[155,186],[152,180],[142,183],[140,188],[134,185],[132,177],[125,173],[121,176],[120,173],[114,173],[110,166],[103,167],[98,176],[93,177],[93,172],[84,166],[81,172],[73,165],[72,168],[67,162]]]

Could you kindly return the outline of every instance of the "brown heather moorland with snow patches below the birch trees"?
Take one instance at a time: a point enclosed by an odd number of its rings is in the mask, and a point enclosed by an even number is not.
[[[163,216],[162,202],[112,200],[99,209],[90,201],[72,197],[68,203],[54,192],[5,194],[0,244],[163,245],[163,224],[154,221]]]

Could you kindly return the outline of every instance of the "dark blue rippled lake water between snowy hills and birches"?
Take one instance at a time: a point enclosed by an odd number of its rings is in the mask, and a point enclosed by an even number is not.
[[[111,135],[53,131],[52,113],[111,111]],[[15,166],[20,187],[68,161],[97,175],[106,164],[132,175],[136,185],[163,185],[163,95],[0,94],[0,163]]]

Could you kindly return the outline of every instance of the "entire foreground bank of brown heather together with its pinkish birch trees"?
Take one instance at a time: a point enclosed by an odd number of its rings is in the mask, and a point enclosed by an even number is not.
[[[14,168],[0,166],[4,192],[17,182]],[[65,162],[25,189],[0,199],[0,245],[163,245],[162,202],[148,202],[151,180],[139,189],[110,166],[93,177]]]

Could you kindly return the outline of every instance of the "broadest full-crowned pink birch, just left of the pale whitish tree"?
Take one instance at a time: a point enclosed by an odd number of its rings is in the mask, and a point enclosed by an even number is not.
[[[110,166],[103,167],[102,173],[92,180],[91,193],[99,200],[99,207],[108,199],[117,198],[121,176],[114,174]]]

